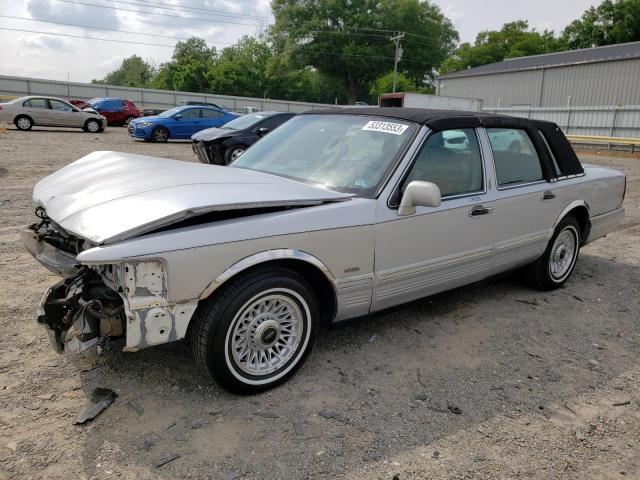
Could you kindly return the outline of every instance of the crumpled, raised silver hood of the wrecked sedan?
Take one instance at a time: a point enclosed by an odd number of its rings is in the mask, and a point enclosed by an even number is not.
[[[40,180],[33,200],[67,232],[113,243],[203,213],[346,200],[334,192],[242,168],[93,152]]]

